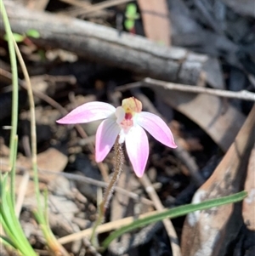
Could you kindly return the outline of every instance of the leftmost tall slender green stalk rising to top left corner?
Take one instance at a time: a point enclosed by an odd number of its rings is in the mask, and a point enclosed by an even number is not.
[[[3,16],[3,25],[8,37],[8,51],[9,58],[12,70],[12,82],[13,82],[13,94],[12,94],[12,128],[10,134],[10,156],[9,156],[9,168],[11,170],[11,196],[13,206],[15,205],[15,164],[16,164],[16,154],[15,151],[15,138],[17,136],[17,128],[18,128],[18,102],[19,102],[19,86],[18,86],[18,68],[17,68],[17,60],[15,56],[14,50],[14,38],[11,31],[11,27],[8,22],[8,15],[6,9],[3,4],[3,0],[0,0],[0,12]]]

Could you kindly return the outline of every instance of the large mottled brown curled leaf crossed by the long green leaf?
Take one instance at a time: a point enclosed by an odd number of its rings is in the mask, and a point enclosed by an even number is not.
[[[240,191],[254,142],[255,106],[212,176],[195,193],[193,202],[227,196]],[[235,239],[241,228],[240,217],[240,204],[228,204],[190,213],[185,219],[182,234],[183,255],[224,255],[229,242]]]

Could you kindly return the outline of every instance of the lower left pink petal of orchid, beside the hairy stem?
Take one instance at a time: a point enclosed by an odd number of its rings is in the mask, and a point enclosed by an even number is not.
[[[102,162],[111,151],[121,128],[117,125],[115,118],[105,119],[100,123],[96,133],[95,159]]]

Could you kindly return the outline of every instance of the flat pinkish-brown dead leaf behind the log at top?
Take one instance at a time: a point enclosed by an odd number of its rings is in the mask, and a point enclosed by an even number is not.
[[[171,45],[171,26],[166,0],[139,0],[145,36],[157,43]]]

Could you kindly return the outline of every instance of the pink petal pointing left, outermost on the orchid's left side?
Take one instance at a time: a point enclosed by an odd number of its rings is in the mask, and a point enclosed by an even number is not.
[[[65,117],[59,119],[59,123],[92,122],[110,117],[116,108],[105,102],[88,102],[78,106]]]

